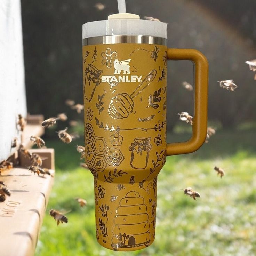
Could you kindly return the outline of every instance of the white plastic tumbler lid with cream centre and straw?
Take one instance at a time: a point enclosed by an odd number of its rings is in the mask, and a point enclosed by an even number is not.
[[[151,35],[167,39],[167,24],[139,19],[139,15],[126,13],[125,0],[118,0],[118,14],[105,21],[83,24],[83,39],[105,35]]]

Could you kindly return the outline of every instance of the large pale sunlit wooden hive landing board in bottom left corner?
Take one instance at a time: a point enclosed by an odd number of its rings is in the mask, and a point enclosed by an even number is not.
[[[54,170],[51,170],[54,174]],[[1,256],[32,256],[54,178],[39,177],[24,168],[2,173],[11,196],[0,203]]]

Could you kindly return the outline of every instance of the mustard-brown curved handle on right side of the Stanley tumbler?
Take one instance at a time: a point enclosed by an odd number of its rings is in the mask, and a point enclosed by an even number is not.
[[[190,60],[195,66],[194,113],[192,136],[186,142],[168,143],[166,155],[192,153],[205,142],[207,134],[208,105],[208,61],[206,57],[194,49],[167,49],[168,60]]]

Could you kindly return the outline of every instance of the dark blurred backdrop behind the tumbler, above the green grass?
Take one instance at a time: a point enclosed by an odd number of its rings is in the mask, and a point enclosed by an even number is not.
[[[216,4],[216,1],[218,4]],[[101,1],[97,10],[93,0],[22,1],[27,105],[30,113],[46,117],[71,110],[65,99],[83,102],[82,24],[106,19],[116,13],[113,0]],[[209,119],[224,127],[253,120],[256,113],[254,73],[246,60],[255,59],[255,15],[252,1],[239,0],[159,0],[127,1],[127,11],[154,16],[168,22],[168,47],[195,48],[209,60]],[[235,15],[234,15],[235,13]],[[235,16],[235,17],[234,17]],[[248,40],[250,38],[250,40]],[[255,40],[254,40],[255,41]],[[234,92],[219,87],[218,80],[234,79]],[[168,119],[172,130],[178,112],[192,113],[192,94],[182,82],[193,83],[192,65],[168,64]],[[73,112],[72,112],[73,113]],[[80,115],[82,118],[82,115]]]

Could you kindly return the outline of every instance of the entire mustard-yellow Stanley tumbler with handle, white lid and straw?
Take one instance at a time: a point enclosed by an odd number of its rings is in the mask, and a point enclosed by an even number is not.
[[[157,176],[166,156],[193,152],[207,131],[208,62],[167,48],[167,24],[119,13],[83,24],[85,161],[94,176],[96,238],[111,250],[154,241]],[[195,67],[193,132],[166,143],[167,61]],[[171,111],[171,110],[168,110]]]

